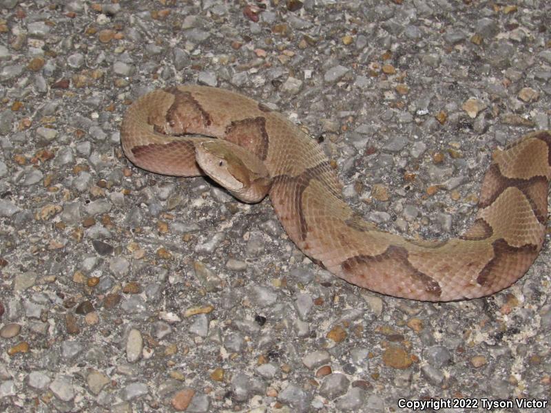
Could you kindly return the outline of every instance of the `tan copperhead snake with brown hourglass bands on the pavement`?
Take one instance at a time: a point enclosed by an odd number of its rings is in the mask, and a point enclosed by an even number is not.
[[[494,153],[475,221],[444,242],[407,240],[358,218],[315,140],[262,103],[225,89],[178,86],[138,98],[123,117],[121,143],[127,158],[148,171],[206,173],[246,202],[268,192],[304,254],[385,295],[452,301],[496,293],[528,271],[545,239],[551,131]]]

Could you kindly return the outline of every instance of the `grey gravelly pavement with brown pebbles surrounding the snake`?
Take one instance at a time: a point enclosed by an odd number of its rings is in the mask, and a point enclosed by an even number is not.
[[[548,397],[550,244],[492,297],[384,297],[306,259],[268,199],[129,164],[118,127],[150,89],[233,89],[308,129],[381,228],[455,236],[491,151],[550,127],[550,16],[545,0],[0,0],[0,410]]]

